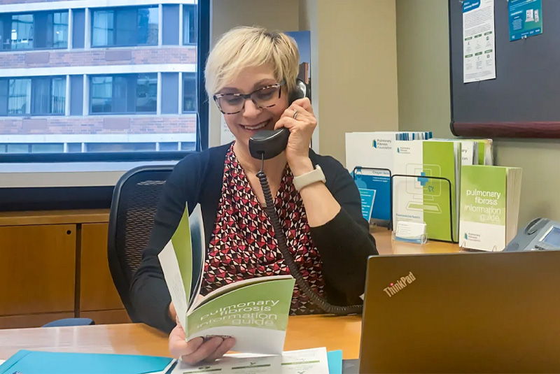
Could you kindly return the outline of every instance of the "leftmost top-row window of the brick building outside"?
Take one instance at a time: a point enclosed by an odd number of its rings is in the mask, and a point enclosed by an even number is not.
[[[67,10],[0,15],[0,50],[67,47]]]

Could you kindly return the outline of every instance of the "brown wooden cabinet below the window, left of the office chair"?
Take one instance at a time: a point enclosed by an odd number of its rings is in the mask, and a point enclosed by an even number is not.
[[[130,322],[107,262],[108,210],[0,213],[0,329]]]

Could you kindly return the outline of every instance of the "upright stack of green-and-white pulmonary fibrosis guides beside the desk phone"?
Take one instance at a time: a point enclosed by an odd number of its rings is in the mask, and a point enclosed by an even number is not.
[[[521,168],[463,166],[459,244],[501,251],[517,233]]]

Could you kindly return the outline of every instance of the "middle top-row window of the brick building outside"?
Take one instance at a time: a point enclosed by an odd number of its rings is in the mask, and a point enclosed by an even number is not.
[[[92,10],[92,47],[157,45],[158,7]]]

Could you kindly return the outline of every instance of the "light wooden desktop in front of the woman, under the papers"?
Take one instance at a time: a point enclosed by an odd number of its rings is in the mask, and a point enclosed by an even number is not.
[[[356,359],[360,329],[358,316],[290,317],[284,350],[327,347],[342,350],[345,359]],[[167,336],[145,324],[0,330],[0,359],[18,350],[169,356]]]

